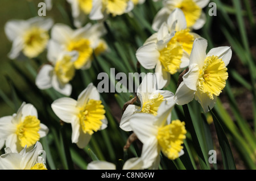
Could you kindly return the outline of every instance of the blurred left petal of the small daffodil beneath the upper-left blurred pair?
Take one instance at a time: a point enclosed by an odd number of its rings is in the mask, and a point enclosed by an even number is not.
[[[51,65],[43,65],[39,70],[35,79],[35,84],[39,89],[44,90],[52,87],[52,71],[53,67]]]

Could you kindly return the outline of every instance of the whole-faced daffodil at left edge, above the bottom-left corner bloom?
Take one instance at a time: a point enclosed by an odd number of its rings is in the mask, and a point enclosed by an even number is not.
[[[0,137],[5,140],[5,146],[14,152],[19,152],[25,146],[30,148],[47,133],[47,126],[40,123],[38,112],[32,104],[23,103],[13,116],[0,118]]]

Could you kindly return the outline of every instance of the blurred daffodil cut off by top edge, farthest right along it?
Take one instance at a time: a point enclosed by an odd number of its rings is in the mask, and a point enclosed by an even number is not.
[[[206,16],[203,8],[208,5],[210,0],[166,0],[163,1],[163,7],[155,15],[152,28],[158,31],[161,24],[166,22],[168,16],[175,8],[184,12],[187,27],[199,30],[206,22]]]

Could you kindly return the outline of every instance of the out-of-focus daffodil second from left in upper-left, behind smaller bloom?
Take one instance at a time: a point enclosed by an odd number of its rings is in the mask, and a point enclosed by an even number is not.
[[[76,69],[89,69],[93,53],[98,54],[108,49],[106,42],[101,39],[105,35],[106,30],[101,23],[86,24],[85,27],[72,30],[65,24],[55,24],[51,31],[51,40],[55,43],[49,43],[48,49],[56,49],[60,47],[63,52],[76,51],[77,59],[74,61]]]

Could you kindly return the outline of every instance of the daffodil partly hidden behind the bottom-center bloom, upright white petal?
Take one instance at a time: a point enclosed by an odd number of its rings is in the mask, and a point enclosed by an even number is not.
[[[134,113],[144,112],[157,115],[159,106],[164,100],[174,102],[174,94],[171,91],[158,90],[156,77],[153,73],[147,73],[143,78],[141,85],[137,89],[137,97],[141,106],[130,104],[127,106],[125,112],[123,112],[119,125],[123,131],[133,130],[130,127],[129,120]]]

